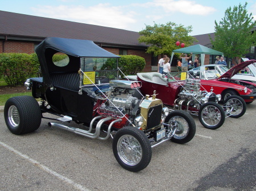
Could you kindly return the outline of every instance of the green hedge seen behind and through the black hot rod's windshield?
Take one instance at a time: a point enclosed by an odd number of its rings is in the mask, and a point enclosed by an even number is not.
[[[118,59],[118,67],[125,75],[136,75],[141,72],[146,65],[144,58],[135,55],[121,55]],[[104,69],[113,69],[115,64],[115,58],[108,59],[102,66]]]

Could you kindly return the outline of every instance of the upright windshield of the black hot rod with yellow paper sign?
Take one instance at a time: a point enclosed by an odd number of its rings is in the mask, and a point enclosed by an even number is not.
[[[84,86],[109,83],[117,79],[117,58],[81,58]],[[93,82],[93,83],[92,83]]]

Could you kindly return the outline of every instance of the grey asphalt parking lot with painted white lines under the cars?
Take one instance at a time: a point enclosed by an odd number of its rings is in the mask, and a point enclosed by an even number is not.
[[[49,127],[11,134],[0,112],[0,190],[256,190],[256,101],[217,130],[197,117],[185,145],[164,142],[140,172],[115,160],[112,139],[100,141]],[[69,126],[76,126],[71,122]]]

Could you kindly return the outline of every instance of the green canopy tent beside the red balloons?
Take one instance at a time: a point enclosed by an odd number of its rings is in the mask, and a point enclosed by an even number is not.
[[[172,58],[174,57],[174,53],[193,53],[192,54],[192,60],[195,60],[195,54],[201,54],[201,65],[204,65],[204,57],[205,54],[214,54],[214,55],[224,55],[222,52],[219,52],[217,50],[210,49],[206,46],[203,46],[201,44],[193,45],[193,46],[188,46],[186,48],[180,48],[172,51],[172,56],[171,56],[171,62]],[[170,62],[170,63],[171,63]]]

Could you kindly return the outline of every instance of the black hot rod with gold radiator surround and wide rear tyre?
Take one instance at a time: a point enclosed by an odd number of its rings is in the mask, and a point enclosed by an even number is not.
[[[118,80],[119,56],[93,41],[48,37],[35,52],[42,77],[25,82],[32,96],[12,97],[5,104],[11,133],[35,131],[42,118],[62,121],[48,125],[93,139],[112,137],[115,159],[134,172],[150,163],[152,147],[170,139],[187,143],[194,137],[196,125],[189,114],[169,112],[156,92],[141,98],[141,82]],[[82,128],[63,125],[71,121]]]

